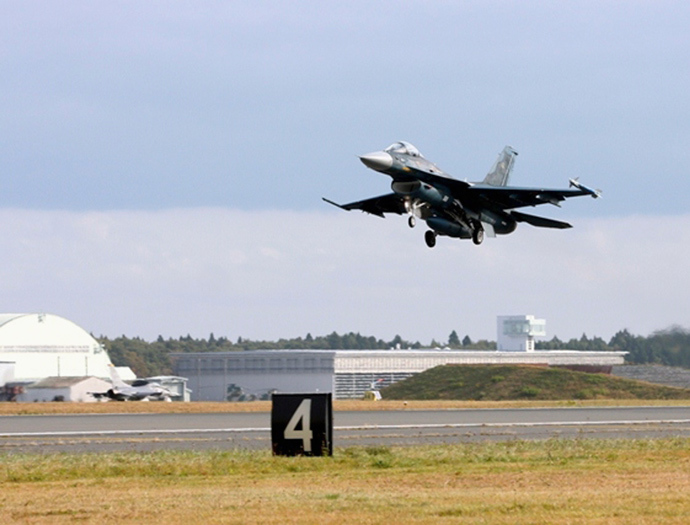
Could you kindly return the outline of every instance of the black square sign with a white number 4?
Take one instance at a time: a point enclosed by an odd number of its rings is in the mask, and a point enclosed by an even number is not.
[[[332,456],[332,395],[273,394],[271,440],[276,456]]]

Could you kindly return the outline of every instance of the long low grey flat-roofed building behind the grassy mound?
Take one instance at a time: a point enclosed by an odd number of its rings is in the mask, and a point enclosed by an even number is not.
[[[357,399],[446,364],[532,364],[610,372],[626,352],[472,350],[253,350],[171,354],[189,379],[192,401],[227,401],[271,392],[332,392]]]

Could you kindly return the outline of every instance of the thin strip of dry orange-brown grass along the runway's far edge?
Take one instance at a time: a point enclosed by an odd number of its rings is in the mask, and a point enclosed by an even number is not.
[[[597,399],[589,401],[359,401],[333,402],[335,411],[352,410],[423,410],[457,408],[536,408],[591,406],[690,406],[690,400]],[[115,414],[115,413],[208,413],[270,412],[270,401],[249,403],[0,403],[0,416],[35,414]]]

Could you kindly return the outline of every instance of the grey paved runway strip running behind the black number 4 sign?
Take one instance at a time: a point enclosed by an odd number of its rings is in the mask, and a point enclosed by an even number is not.
[[[334,445],[690,437],[690,407],[336,412]],[[270,450],[269,413],[0,416],[0,452]]]

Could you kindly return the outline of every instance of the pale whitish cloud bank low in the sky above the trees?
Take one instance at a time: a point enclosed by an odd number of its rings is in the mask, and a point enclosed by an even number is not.
[[[337,211],[4,209],[0,310],[149,340],[494,339],[497,315],[521,313],[562,339],[685,323],[690,215],[522,225],[480,247],[440,238],[433,250],[423,231]]]

